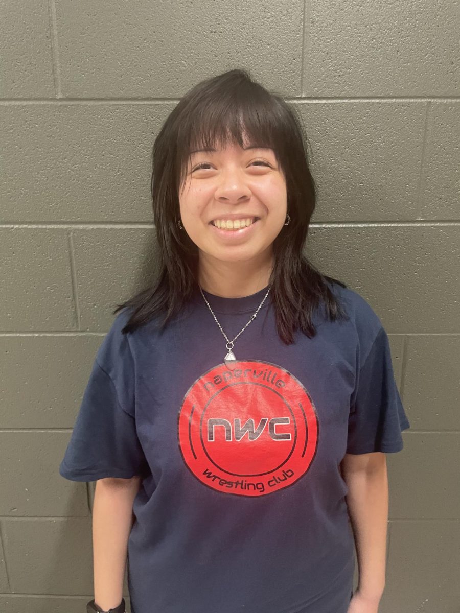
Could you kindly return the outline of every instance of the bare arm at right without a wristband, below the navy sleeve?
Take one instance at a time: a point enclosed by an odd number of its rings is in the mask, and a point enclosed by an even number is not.
[[[345,454],[343,479],[358,556],[358,591],[380,600],[385,588],[388,474],[384,453]]]

